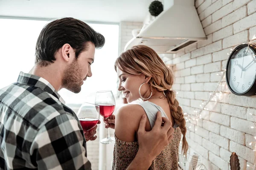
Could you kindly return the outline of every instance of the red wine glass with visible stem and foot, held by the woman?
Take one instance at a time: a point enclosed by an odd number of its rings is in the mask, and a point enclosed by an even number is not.
[[[98,91],[96,93],[95,105],[99,106],[99,114],[104,118],[112,115],[116,107],[116,101],[112,91]],[[115,138],[111,137],[107,129],[107,138],[100,141],[102,144],[110,144],[115,142]]]

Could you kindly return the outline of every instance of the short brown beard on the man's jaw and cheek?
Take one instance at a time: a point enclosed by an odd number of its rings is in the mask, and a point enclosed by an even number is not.
[[[81,69],[76,59],[70,64],[70,66],[64,71],[64,77],[62,79],[62,87],[66,88],[73,93],[79,93],[81,91]]]

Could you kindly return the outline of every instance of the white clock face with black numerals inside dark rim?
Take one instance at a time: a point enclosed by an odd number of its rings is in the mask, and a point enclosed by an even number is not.
[[[255,82],[255,53],[247,49],[247,45],[236,48],[227,63],[227,82],[236,94],[247,92]]]

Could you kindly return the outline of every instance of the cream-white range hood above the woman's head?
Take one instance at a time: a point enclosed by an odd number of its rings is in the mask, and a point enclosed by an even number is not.
[[[132,38],[125,51],[134,45],[147,45],[157,53],[177,53],[188,45],[207,40],[194,0],[164,1],[170,7]]]

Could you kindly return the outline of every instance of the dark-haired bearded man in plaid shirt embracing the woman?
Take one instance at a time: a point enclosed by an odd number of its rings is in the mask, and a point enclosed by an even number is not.
[[[58,91],[81,91],[83,81],[92,76],[95,48],[104,43],[101,34],[74,18],[55,20],[43,28],[36,44],[35,66],[29,74],[20,72],[17,82],[0,90],[1,170],[91,169],[86,141],[96,139],[96,127],[83,134],[76,114]],[[160,114],[157,119],[155,127],[146,132],[145,115],[142,118],[140,149],[128,170],[148,169],[172,139],[169,120]]]

